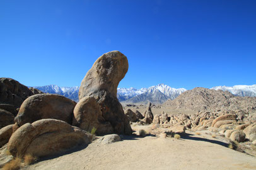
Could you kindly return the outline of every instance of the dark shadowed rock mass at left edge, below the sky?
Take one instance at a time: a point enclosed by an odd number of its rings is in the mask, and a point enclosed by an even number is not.
[[[18,108],[33,94],[28,87],[12,78],[0,78],[0,104],[10,104]]]

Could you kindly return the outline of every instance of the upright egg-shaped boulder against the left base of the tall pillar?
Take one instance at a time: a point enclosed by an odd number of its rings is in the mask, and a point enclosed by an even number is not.
[[[94,127],[97,135],[113,133],[112,125],[102,117],[102,110],[94,97],[84,97],[76,104],[72,125],[88,132]]]

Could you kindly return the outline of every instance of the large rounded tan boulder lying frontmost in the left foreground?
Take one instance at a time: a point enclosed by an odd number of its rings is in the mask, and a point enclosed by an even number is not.
[[[91,134],[62,120],[42,119],[27,123],[16,130],[8,142],[13,156],[32,154],[50,156],[67,151],[80,144],[90,144]]]

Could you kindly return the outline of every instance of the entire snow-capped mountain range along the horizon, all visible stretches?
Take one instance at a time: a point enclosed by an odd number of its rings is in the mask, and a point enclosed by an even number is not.
[[[57,85],[45,85],[34,87],[44,93],[57,93],[78,102],[79,87],[59,87]],[[218,86],[212,90],[228,91],[236,96],[256,97],[256,85],[235,85],[233,87]],[[173,100],[187,91],[185,88],[172,88],[165,84],[159,84],[149,88],[117,88],[117,98],[122,104],[163,104],[166,100]]]

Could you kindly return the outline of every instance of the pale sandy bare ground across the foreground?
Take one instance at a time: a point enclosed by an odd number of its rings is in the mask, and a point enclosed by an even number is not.
[[[132,125],[150,130],[151,125]],[[37,162],[25,169],[256,169],[256,157],[226,147],[224,138],[187,130],[181,139],[124,136],[112,144],[94,141],[81,151]]]

